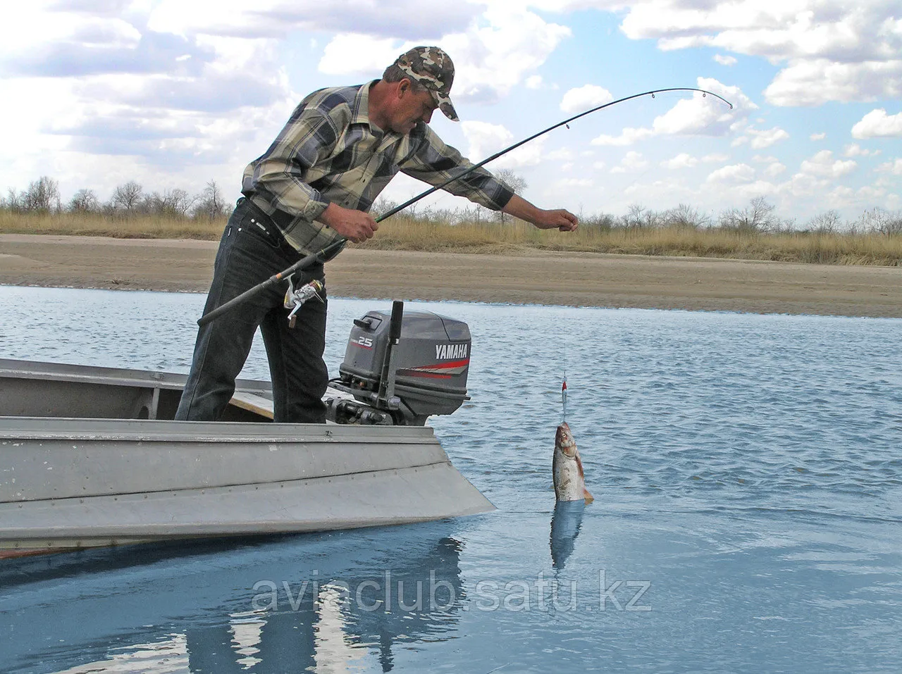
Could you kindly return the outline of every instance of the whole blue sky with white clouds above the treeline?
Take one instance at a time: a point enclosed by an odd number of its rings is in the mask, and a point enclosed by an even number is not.
[[[543,207],[713,215],[765,196],[804,225],[902,208],[902,9],[865,0],[37,0],[0,25],[0,190],[41,175],[64,199],[238,196],[248,161],[308,92],[379,77],[400,52],[455,60],[461,123],[433,128],[483,157],[612,98],[662,87],[494,164]],[[397,178],[394,200],[421,186]],[[466,205],[456,197],[433,203]]]

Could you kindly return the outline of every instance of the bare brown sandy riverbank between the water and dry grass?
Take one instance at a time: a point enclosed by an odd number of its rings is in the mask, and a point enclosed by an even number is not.
[[[0,285],[205,292],[216,242],[0,234]],[[331,296],[902,317],[902,268],[345,250]]]

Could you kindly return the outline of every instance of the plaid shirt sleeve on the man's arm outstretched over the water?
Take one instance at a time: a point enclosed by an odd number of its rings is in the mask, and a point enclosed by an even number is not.
[[[422,127],[422,131],[419,127]],[[459,176],[473,166],[472,161],[446,145],[425,123],[419,124],[411,133],[411,141],[414,141],[413,149],[399,164],[401,172],[411,178],[429,185],[441,185],[448,178]],[[500,211],[513,196],[510,187],[484,168],[476,168],[443,189],[456,196],[465,196],[492,211]]]

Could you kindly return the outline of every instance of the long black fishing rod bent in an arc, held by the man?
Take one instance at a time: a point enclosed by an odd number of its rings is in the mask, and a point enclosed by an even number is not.
[[[586,110],[584,113],[575,114],[572,117],[568,117],[563,122],[558,122],[557,124],[554,124],[553,126],[549,126],[548,129],[543,129],[542,131],[540,131],[538,133],[533,133],[531,136],[529,136],[529,138],[525,138],[522,141],[515,142],[510,147],[507,147],[507,148],[504,148],[504,150],[495,152],[491,157],[487,157],[487,158],[483,159],[478,164],[474,164],[470,168],[465,169],[464,172],[459,173],[456,176],[453,176],[452,178],[448,178],[445,182],[440,183],[434,187],[429,187],[428,190],[426,190],[425,192],[422,192],[421,194],[419,194],[417,196],[413,196],[410,199],[408,199],[407,201],[405,201],[403,204],[397,205],[394,208],[392,208],[391,210],[386,211],[379,217],[375,218],[375,221],[376,221],[376,223],[381,223],[383,220],[386,220],[387,218],[390,218],[392,215],[398,213],[399,211],[404,210],[409,205],[416,204],[424,196],[429,196],[432,193],[437,192],[439,189],[442,189],[443,187],[447,187],[448,185],[455,182],[456,180],[465,178],[466,176],[473,173],[473,171],[476,170],[477,168],[482,168],[483,166],[488,164],[490,161],[493,161],[495,159],[498,159],[499,157],[502,157],[502,155],[507,154],[511,150],[516,150],[517,148],[520,147],[520,145],[524,145],[524,144],[528,143],[529,141],[534,141],[539,136],[544,135],[545,133],[548,133],[549,131],[554,131],[555,129],[557,129],[561,126],[566,126],[569,129],[570,128],[569,124],[571,122],[574,122],[575,120],[579,119],[580,117],[584,117],[587,114],[596,113],[599,110],[603,110],[606,107],[611,107],[612,105],[617,105],[619,103],[624,103],[626,101],[630,101],[633,98],[640,98],[642,96],[651,96],[652,98],[654,98],[656,94],[664,94],[669,91],[698,92],[703,97],[708,96],[710,94],[714,98],[719,98],[720,100],[723,101],[723,103],[729,105],[730,109],[732,110],[732,103],[730,103],[730,101],[728,101],[723,96],[715,94],[715,93],[713,93],[713,91],[707,91],[705,89],[698,89],[695,87],[670,87],[670,88],[666,88],[666,89],[652,89],[651,91],[643,91],[641,94],[633,94],[632,96],[624,96],[623,98],[618,98],[616,101],[611,101],[610,103],[605,103],[604,105],[597,105],[594,108],[592,108],[591,110]],[[345,239],[344,237],[341,237],[337,241],[333,241],[332,243],[327,245],[322,250],[318,250],[315,253],[310,253],[309,255],[301,258],[300,260],[295,262],[293,265],[291,265],[288,269],[284,269],[284,270],[280,271],[278,274],[274,274],[273,276],[271,276],[270,278],[267,278],[262,283],[258,283],[256,286],[245,290],[244,293],[242,293],[241,295],[233,297],[228,302],[226,302],[226,304],[217,306],[216,309],[213,309],[208,314],[204,314],[198,320],[198,325],[204,325],[206,323],[209,323],[210,321],[216,320],[216,318],[218,318],[222,314],[225,314],[227,311],[230,311],[236,305],[242,304],[245,300],[256,295],[257,293],[262,292],[263,290],[266,290],[269,287],[274,286],[275,284],[279,283],[279,281],[281,281],[285,278],[289,278],[296,271],[300,271],[301,269],[307,269],[310,265],[313,265],[313,264],[316,264],[319,262],[325,262],[326,260],[331,259],[345,247],[345,243],[347,243],[347,239]]]

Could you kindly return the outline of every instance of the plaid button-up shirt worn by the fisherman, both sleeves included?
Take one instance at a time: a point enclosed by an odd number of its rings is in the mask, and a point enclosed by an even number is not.
[[[300,102],[269,150],[244,169],[242,193],[303,253],[340,238],[317,222],[327,205],[368,211],[400,170],[430,185],[473,164],[426,123],[406,135],[370,123],[369,85],[320,89]],[[501,210],[513,192],[484,168],[445,189]]]

